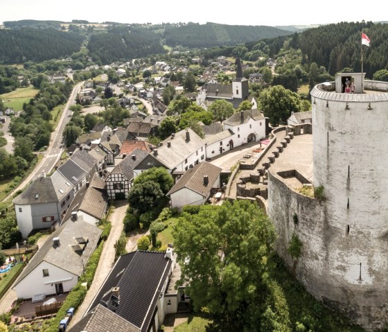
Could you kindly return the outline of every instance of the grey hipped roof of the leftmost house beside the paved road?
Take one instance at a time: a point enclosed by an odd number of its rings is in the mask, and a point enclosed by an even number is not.
[[[57,194],[50,177],[38,177],[13,202],[17,205],[58,202]]]

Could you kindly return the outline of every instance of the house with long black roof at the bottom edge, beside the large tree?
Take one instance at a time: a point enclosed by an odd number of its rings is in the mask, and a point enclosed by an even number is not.
[[[184,290],[174,289],[171,276],[177,266],[171,248],[120,256],[87,314],[69,332],[93,331],[90,326],[98,322],[109,323],[106,331],[116,326],[121,331],[157,332],[167,313],[189,306]]]

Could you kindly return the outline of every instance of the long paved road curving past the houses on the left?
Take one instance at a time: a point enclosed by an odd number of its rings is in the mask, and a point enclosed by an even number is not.
[[[62,132],[64,130],[64,126],[71,119],[72,112],[70,110],[70,106],[76,103],[76,96],[83,83],[84,82],[80,82],[73,88],[69,100],[67,101],[67,104],[64,107],[57,128],[55,128],[55,131],[51,134],[50,145],[48,146],[46,152],[44,152],[44,157],[42,161],[40,161],[40,163],[35,167],[34,171],[31,172],[30,175],[28,175],[28,177],[26,177],[26,179],[21,182],[19,186],[17,186],[17,188],[11,191],[9,195],[4,198],[4,200],[7,200],[16,191],[23,189],[27,184],[30,183],[30,181],[35,180],[42,173],[50,172],[51,169],[53,169],[55,164],[58,162],[60,156],[62,155],[62,152],[64,151],[64,148],[66,147],[62,138]]]

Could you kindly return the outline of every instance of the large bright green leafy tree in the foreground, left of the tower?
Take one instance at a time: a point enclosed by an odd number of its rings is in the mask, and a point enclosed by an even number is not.
[[[275,230],[257,204],[236,200],[182,213],[173,236],[180,283],[188,285],[194,310],[206,308],[224,320],[223,331],[258,331],[252,314],[263,306]]]

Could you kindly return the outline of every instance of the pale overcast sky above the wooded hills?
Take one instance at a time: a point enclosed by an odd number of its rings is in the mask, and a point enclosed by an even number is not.
[[[369,8],[369,10],[368,10]],[[161,23],[206,21],[252,26],[384,21],[385,10],[358,1],[0,0],[0,22],[19,19]]]

